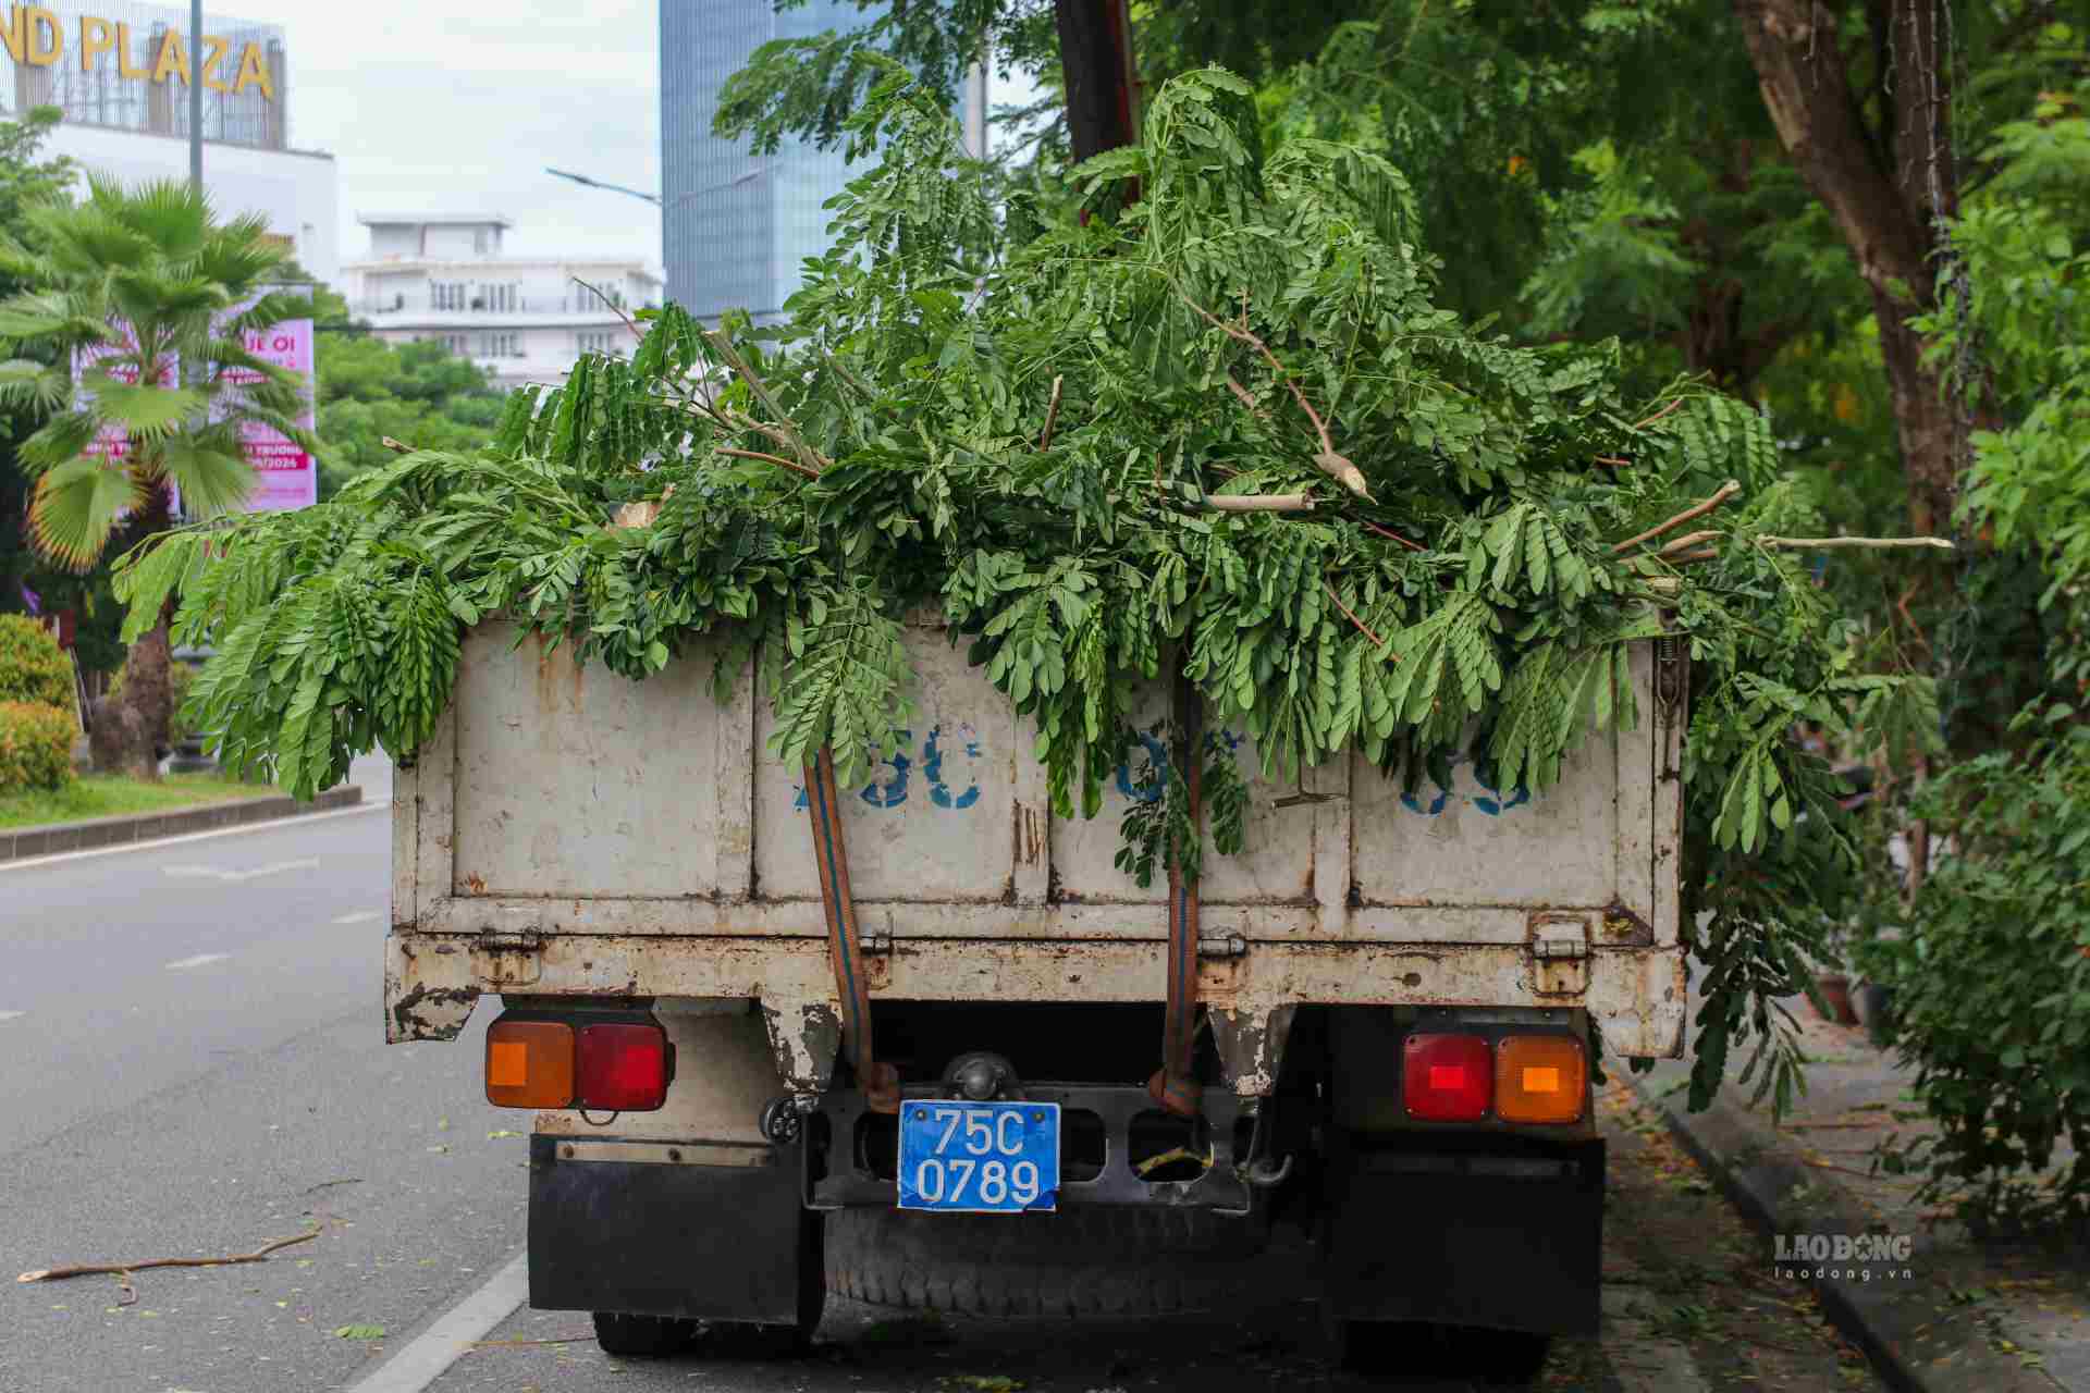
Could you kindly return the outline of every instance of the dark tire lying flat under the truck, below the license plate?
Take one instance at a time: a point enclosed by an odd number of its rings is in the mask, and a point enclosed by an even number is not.
[[[961,1316],[1164,1316],[1239,1299],[1256,1220],[1097,1205],[1060,1213],[828,1215],[828,1291]]]

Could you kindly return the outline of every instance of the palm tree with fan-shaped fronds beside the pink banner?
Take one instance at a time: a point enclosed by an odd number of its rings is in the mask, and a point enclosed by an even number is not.
[[[150,541],[176,495],[190,520],[238,510],[253,489],[247,424],[316,449],[295,420],[299,374],[247,351],[251,330],[311,313],[301,294],[268,290],[288,253],[259,215],[217,221],[182,182],[90,178],[77,207],[23,221],[21,240],[0,236],[0,274],[29,284],[0,301],[0,343],[56,361],[0,361],[0,403],[48,414],[21,462],[36,478],[29,535],[54,562],[90,570],[119,533]],[[167,731],[171,604],[123,683],[121,758],[144,779]]]

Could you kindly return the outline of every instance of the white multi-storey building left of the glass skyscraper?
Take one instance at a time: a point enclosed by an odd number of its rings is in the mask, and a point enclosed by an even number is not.
[[[629,353],[633,309],[660,278],[617,257],[506,257],[500,213],[366,213],[370,257],[347,261],[349,311],[387,343],[435,338],[495,384],[566,380],[583,353]]]

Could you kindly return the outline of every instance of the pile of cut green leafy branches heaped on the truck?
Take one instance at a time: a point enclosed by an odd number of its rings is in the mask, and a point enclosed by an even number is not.
[[[635,681],[723,637],[769,752],[832,750],[846,783],[905,725],[903,622],[934,606],[1032,721],[1062,817],[1137,756],[1156,677],[1248,731],[1264,779],[1361,750],[1542,789],[1639,716],[1626,645],[1682,643],[1695,1090],[1754,1038],[1787,1096],[1774,998],[1852,865],[1789,731],[1917,746],[1927,681],[1873,672],[1812,583],[1762,414],[1697,382],[1628,401],[1611,353],[1438,309],[1400,171],[1304,138],[1264,159],[1248,100],[1218,69],[1170,81],[1141,146],[1078,169],[1081,226],[1041,228],[895,73],[786,324],[656,311],[631,361],[518,393],[487,449],[159,537],[121,570],[134,627],[178,601],[176,641],[217,650],[192,716],[301,796],[364,750],[412,758],[487,616]],[[1127,817],[1141,879],[1195,869],[1177,783]],[[1204,798],[1239,848],[1229,760]]]

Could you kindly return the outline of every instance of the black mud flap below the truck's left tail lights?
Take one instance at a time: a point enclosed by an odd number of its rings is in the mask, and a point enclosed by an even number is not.
[[[805,1326],[811,1303],[819,1318],[819,1215],[798,1203],[796,1149],[690,1165],[566,1159],[562,1140],[531,1136],[533,1307]]]

